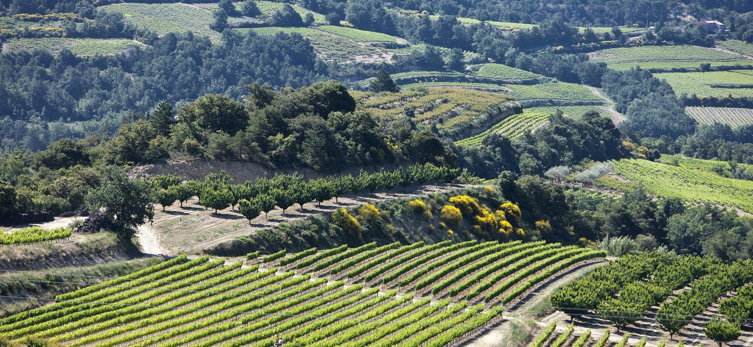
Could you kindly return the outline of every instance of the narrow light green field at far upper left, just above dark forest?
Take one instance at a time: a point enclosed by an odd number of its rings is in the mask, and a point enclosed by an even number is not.
[[[118,54],[134,46],[142,45],[127,38],[11,38],[8,51],[32,50],[35,48],[56,54],[68,48],[76,55]]]

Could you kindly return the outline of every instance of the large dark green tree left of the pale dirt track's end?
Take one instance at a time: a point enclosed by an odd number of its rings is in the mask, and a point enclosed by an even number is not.
[[[131,180],[120,167],[108,166],[100,169],[99,187],[92,189],[86,197],[87,208],[101,210],[114,222],[115,232],[130,239],[136,234],[136,226],[145,219],[154,217],[152,186],[145,180]]]

